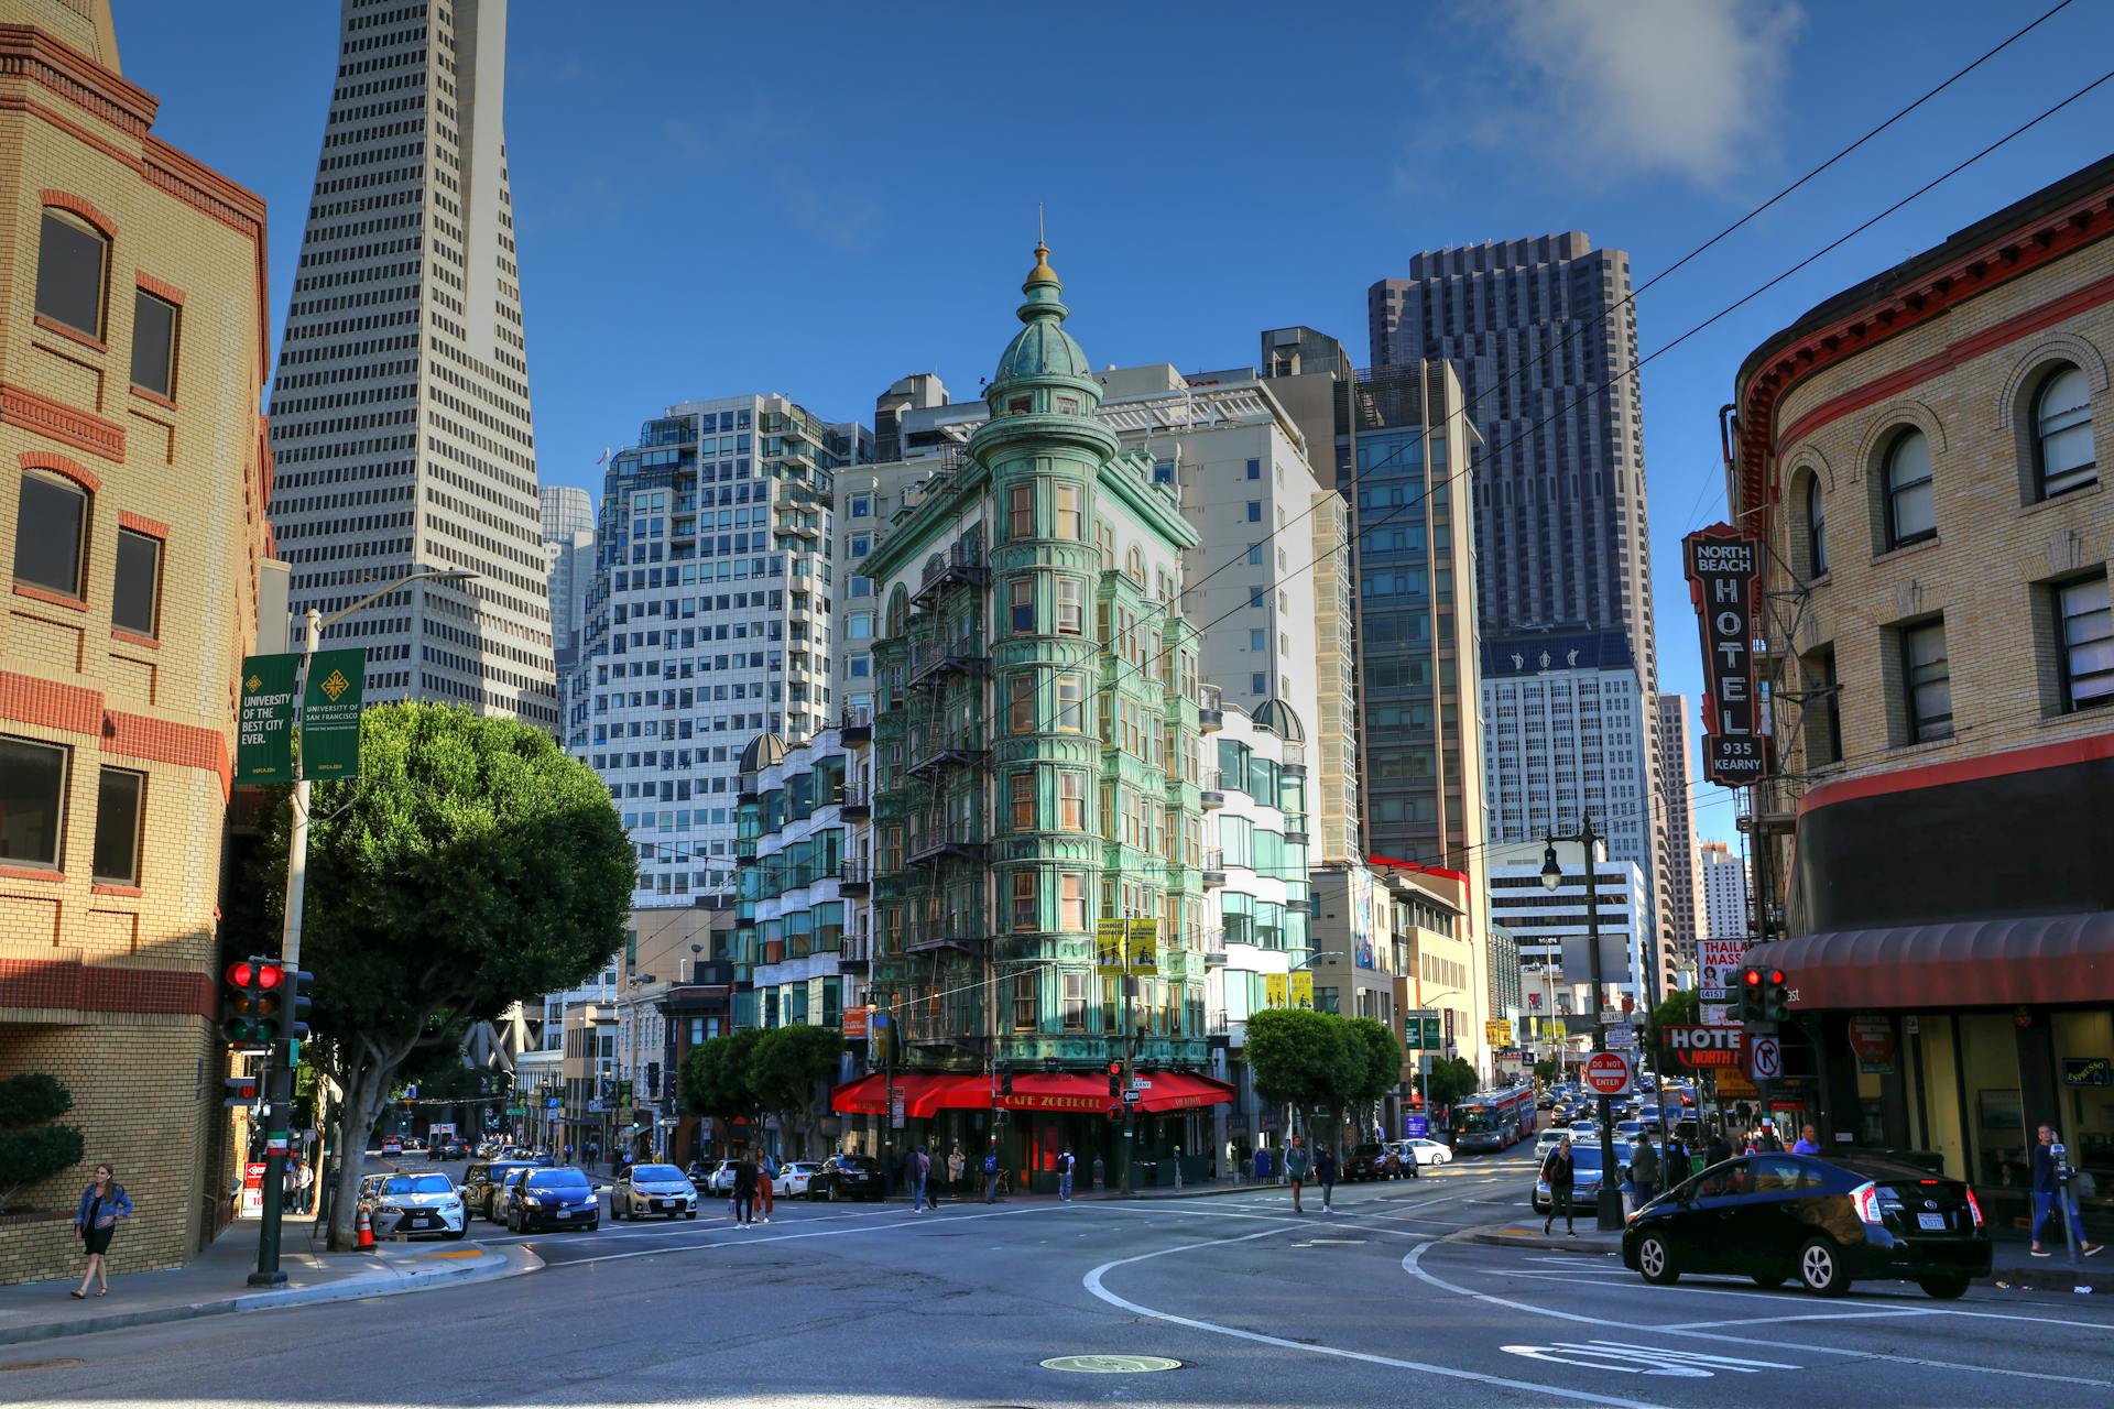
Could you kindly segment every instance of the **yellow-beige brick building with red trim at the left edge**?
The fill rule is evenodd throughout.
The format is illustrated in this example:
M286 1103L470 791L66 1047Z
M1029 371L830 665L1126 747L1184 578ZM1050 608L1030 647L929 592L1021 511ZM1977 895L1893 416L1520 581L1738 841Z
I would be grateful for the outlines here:
M150 133L108 0L0 0L0 1073L74 1094L137 1213L118 1272L226 1215L222 837L273 553L262 201ZM87 1166L0 1225L78 1265Z

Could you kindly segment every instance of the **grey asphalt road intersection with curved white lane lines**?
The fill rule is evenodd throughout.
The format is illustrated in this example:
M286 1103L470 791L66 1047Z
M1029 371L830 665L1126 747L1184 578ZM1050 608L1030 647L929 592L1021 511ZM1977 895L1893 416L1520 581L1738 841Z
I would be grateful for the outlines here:
M2114 1308L1974 1289L1841 1301L1450 1240L1528 1160L1180 1202L780 1200L767 1227L539 1234L543 1272L11 1356L0 1401L93 1405L2027 1405L2114 1403ZM482 1232L478 1236L484 1236ZM505 1238L497 1234L495 1238ZM118 1289L120 1295L123 1289ZM273 1354L273 1371L256 1365ZM294 1354L283 1354L294 1352ZM1165 1356L1070 1373L1051 1356ZM57 1360L51 1365L40 1365ZM38 1367L40 1365L40 1367Z

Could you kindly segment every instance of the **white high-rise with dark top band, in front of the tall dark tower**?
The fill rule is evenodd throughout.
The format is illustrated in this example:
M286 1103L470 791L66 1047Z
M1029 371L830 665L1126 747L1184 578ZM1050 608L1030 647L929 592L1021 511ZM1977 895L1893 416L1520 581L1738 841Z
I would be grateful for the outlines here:
M1636 665L1621 632L1543 632L1484 640L1482 756L1490 843L1533 843L1579 830L1581 818L1607 839L1607 856L1636 866L1638 934L1657 934L1651 900L1653 820L1638 801L1651 739ZM1539 856L1539 853L1537 853ZM1497 881L1492 879L1492 887ZM1490 919L1497 915L1492 889ZM1520 936L1520 953L1528 934ZM1674 987L1674 957L1659 944L1662 982ZM1579 980L1583 982L1583 980Z

